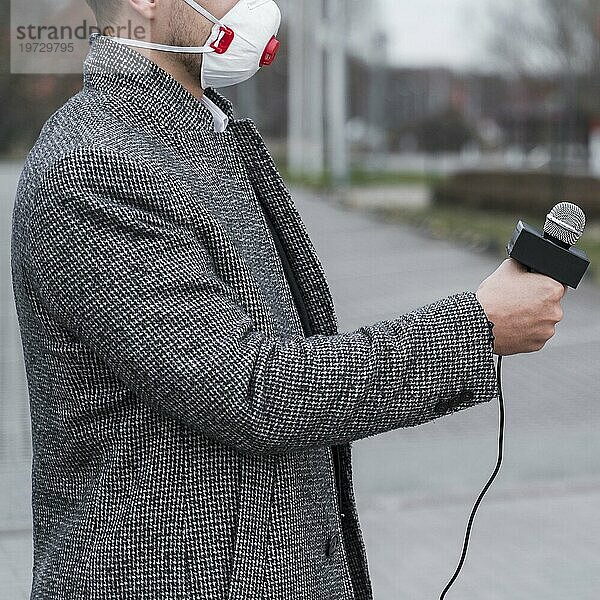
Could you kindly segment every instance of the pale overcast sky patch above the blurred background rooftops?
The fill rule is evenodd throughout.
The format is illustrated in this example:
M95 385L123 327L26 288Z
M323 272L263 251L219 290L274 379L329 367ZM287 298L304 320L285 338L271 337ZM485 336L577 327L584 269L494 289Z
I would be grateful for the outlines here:
M506 2L507 0L500 0ZM485 68L492 0L372 0L401 65Z

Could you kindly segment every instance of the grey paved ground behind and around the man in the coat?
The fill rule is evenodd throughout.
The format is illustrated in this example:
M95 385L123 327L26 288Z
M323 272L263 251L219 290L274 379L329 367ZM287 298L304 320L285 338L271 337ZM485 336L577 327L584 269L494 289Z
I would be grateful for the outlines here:
M0 167L0 600L28 597L28 407L8 279L15 166ZM300 191L340 329L475 289L488 256L432 241ZM600 290L569 294L560 333L505 363L506 464L483 504L463 577L448 599L591 600L600 594ZM378 600L437 599L466 518L496 458L489 404L357 442L356 491Z

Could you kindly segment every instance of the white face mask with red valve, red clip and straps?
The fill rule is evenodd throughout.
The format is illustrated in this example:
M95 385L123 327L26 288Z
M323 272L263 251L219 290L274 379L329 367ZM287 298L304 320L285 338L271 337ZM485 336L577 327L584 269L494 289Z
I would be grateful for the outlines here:
M275 36L281 25L281 12L274 0L239 0L222 19L211 15L195 0L183 1L214 23L205 46L169 46L129 38L111 39L136 48L205 54L200 73L202 89L242 83L275 60L279 50Z

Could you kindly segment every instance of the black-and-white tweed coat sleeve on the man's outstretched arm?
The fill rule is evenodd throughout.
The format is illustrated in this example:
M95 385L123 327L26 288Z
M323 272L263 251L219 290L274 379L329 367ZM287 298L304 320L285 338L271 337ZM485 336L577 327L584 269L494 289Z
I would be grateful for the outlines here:
M495 397L490 328L473 293L334 336L267 336L197 232L140 201L140 168L91 150L59 161L34 195L28 272L54 318L156 411L272 454ZM130 183L111 179L117 171Z

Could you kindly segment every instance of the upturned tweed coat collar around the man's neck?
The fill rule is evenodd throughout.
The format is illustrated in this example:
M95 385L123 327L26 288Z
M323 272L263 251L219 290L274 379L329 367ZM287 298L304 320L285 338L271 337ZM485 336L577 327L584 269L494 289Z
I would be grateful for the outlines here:
M202 102L156 63L108 36L90 37L83 73L85 89L102 95L127 118L173 132L214 131L213 116ZM233 121L229 100L212 89L205 95Z

